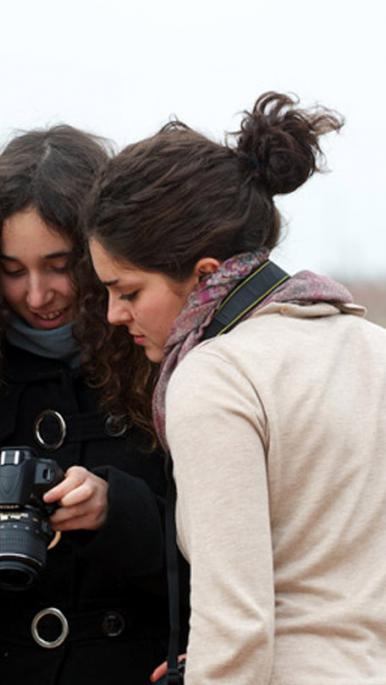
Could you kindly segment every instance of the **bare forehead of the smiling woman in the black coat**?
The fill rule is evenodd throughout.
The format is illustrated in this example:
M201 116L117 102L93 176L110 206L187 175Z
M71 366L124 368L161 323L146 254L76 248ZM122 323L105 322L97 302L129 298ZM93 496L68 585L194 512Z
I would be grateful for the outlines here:
M1 251L5 255L26 258L71 247L71 239L46 224L35 209L16 212L4 221Z

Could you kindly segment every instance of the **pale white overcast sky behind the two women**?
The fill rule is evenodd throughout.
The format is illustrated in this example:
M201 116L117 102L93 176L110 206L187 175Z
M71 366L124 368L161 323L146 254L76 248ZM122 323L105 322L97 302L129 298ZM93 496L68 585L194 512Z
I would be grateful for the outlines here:
M285 268L386 278L383 0L0 0L0 142L70 123L122 145L171 114L222 139L266 90L339 110L331 173L279 202Z

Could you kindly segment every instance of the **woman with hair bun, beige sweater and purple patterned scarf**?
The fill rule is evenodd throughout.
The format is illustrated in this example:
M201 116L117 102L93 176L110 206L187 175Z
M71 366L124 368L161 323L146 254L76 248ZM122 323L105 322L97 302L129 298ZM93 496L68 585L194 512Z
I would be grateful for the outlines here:
M191 564L186 685L384 681L386 332L342 285L269 260L274 197L321 170L320 136L341 125L266 93L226 144L171 122L91 194L108 319L160 364Z

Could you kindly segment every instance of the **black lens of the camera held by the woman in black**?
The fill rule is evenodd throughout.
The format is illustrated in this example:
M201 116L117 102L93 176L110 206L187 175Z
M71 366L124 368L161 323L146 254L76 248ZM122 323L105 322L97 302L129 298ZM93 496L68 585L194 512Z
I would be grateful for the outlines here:
M45 566L51 528L38 509L2 511L0 516L0 588L25 590Z

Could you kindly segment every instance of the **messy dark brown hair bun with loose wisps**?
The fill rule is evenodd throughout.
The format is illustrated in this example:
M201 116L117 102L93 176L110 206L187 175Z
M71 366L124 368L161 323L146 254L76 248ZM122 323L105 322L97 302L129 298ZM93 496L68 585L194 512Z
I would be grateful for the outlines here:
M297 108L298 99L281 93L261 95L252 112L245 112L237 136L243 169L271 195L291 193L315 171L324 158L319 136L338 131L343 119L318 107Z

